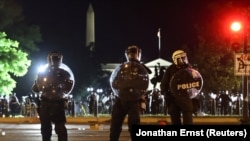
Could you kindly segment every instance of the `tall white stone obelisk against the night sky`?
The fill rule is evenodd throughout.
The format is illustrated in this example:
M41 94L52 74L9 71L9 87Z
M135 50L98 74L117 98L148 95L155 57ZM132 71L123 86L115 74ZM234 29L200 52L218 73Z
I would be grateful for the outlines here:
M94 51L95 43L95 13L92 4L89 4L86 19L86 47Z

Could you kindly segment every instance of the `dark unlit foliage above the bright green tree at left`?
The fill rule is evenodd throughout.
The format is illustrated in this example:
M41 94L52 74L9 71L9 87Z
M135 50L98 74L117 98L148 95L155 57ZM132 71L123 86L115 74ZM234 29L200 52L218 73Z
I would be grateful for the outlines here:
M42 41L40 27L30 24L22 15L21 1L0 0L0 31L19 42L19 48L26 52L39 51L36 43Z

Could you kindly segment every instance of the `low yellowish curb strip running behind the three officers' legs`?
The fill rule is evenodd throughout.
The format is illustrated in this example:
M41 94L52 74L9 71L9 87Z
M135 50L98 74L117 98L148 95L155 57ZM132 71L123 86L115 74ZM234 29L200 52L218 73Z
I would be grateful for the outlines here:
M241 116L195 116L195 124L240 124ZM85 117L67 117L67 123L69 124L89 124L90 122L96 122L100 124L109 124L110 116L85 116ZM159 121L166 121L170 123L169 116L141 116L141 123L143 124L157 124ZM127 123L127 118L124 121ZM40 123L39 118L35 117L17 117L17 118L0 118L0 123Z

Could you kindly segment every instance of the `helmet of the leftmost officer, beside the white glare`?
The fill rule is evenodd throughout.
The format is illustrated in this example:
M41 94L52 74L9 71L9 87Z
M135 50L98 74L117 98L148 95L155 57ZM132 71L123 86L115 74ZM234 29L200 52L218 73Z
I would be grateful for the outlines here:
M62 64L63 55L60 52L52 51L48 54L49 66L59 67Z

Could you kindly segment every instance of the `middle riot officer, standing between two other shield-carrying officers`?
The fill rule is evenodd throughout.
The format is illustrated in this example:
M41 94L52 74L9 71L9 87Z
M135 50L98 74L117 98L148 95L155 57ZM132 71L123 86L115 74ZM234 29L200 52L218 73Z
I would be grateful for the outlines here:
M141 104L148 88L151 71L140 63L141 49L129 46L125 51L127 62L112 72L110 84L117 95L111 113L110 141L118 141L123 121L128 115L128 128L132 135L132 125L140 123ZM143 104L142 104L143 105Z

